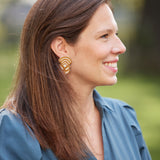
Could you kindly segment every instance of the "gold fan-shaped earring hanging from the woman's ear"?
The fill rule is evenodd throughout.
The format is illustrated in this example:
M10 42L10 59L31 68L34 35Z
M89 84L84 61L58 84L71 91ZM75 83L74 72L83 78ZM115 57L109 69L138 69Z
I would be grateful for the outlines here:
M64 71L65 74L68 74L70 72L72 60L67 56L63 56L59 58L58 61L60 63L60 68L62 69L62 71Z

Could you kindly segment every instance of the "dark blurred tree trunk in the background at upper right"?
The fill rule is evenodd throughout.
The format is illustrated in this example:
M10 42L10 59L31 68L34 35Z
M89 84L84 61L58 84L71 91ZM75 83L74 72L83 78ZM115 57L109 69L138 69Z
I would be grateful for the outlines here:
M130 71L160 73L159 6L158 0L145 0L135 38L130 44Z

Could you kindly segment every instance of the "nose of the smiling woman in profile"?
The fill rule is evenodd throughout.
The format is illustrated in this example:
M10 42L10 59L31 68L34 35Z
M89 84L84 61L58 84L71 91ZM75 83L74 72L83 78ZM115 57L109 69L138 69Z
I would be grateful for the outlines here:
M126 51L125 45L118 37L116 37L116 41L113 44L112 53L123 54L125 51Z

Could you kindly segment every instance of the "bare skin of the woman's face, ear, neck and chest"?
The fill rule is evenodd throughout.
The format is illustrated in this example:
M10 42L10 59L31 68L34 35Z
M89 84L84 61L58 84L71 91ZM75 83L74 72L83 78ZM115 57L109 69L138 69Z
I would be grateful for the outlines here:
M69 56L72 59L71 71L67 76L77 91L77 104L82 113L80 119L84 122L87 134L84 141L98 160L104 159L104 152L101 118L94 104L93 89L117 82L119 55L126 51L117 32L112 11L107 4L102 4L76 44L67 44L63 37L57 37L51 44L57 56Z

